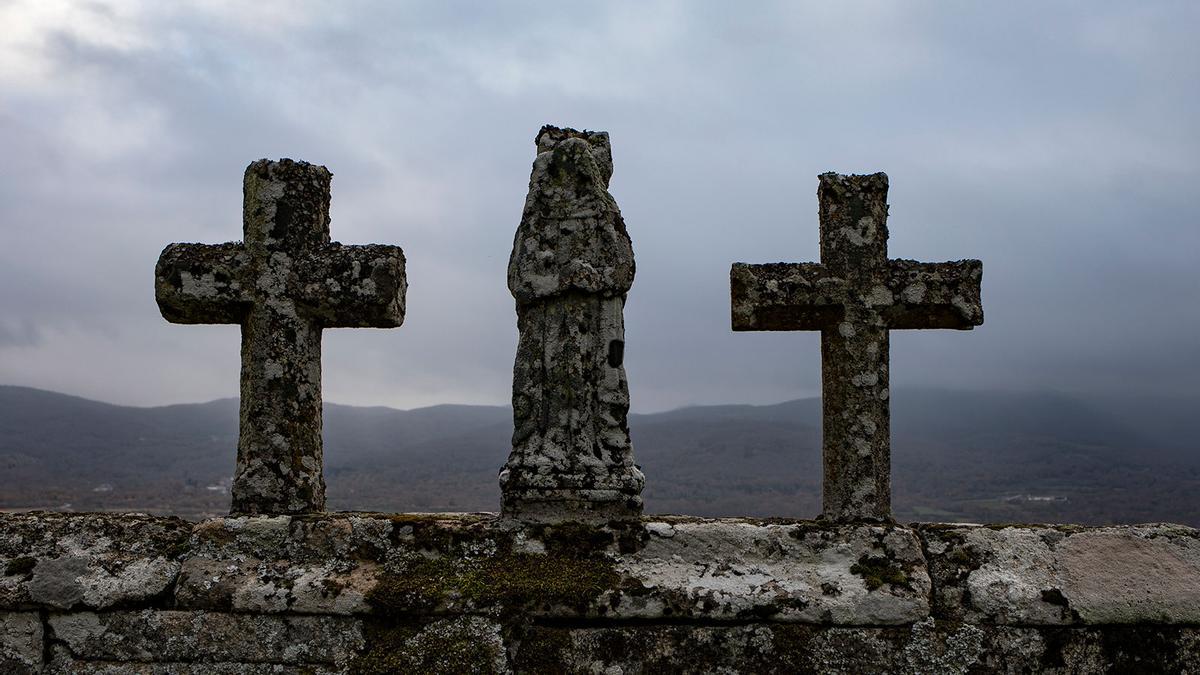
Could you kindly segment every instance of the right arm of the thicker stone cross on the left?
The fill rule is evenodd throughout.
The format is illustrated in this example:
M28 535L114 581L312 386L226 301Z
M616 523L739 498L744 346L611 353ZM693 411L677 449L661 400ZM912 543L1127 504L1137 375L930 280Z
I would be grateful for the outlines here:
M301 294L326 328L395 328L404 322L404 252L400 246L330 244L310 253Z

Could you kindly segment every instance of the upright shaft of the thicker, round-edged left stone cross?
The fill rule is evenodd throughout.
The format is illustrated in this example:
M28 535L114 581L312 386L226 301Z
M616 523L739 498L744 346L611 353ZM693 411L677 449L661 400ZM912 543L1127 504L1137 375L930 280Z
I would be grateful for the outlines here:
M306 163L254 162L242 187L242 237L263 261L260 293L241 330L241 432L234 513L323 510L320 324L298 311L298 264L329 244L332 174Z

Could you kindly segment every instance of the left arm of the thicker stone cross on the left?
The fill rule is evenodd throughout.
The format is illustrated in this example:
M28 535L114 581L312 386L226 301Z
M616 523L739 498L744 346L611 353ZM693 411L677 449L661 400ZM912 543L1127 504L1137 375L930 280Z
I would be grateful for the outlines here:
M172 323L240 323L250 306L245 246L170 244L155 265L155 299Z

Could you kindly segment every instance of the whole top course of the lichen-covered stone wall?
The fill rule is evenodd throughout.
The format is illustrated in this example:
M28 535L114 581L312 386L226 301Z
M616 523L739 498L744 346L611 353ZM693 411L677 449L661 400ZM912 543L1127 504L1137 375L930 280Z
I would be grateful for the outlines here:
M509 607L565 619L1200 625L1200 531L673 515L521 525L490 513L194 524L0 515L0 609L163 602L262 614Z

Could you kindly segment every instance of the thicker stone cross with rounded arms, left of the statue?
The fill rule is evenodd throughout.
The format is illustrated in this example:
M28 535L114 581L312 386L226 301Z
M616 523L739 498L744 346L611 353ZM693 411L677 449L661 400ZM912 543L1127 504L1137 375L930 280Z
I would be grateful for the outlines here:
M241 324L234 514L324 510L320 331L404 319L400 247L329 240L331 177L307 162L253 162L245 241L170 244L155 268L167 321Z

